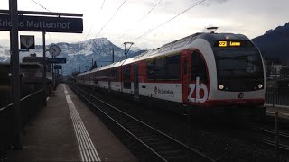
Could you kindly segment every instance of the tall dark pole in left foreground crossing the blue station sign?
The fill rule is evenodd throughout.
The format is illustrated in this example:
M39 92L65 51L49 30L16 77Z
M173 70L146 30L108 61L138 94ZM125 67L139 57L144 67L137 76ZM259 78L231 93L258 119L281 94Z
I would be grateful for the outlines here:
M14 94L14 149L22 149L20 133L22 130L22 116L20 109L20 76L19 76L19 41L18 41L18 9L17 0L9 1L11 16L11 54L13 66L13 94Z

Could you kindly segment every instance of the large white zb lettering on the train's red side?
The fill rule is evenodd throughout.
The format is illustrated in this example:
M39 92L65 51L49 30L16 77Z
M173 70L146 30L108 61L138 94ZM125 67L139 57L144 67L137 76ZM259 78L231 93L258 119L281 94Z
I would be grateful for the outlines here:
M196 78L195 84L190 84L190 94L188 99L192 103L205 103L208 99L208 88L204 84L200 84L200 77Z

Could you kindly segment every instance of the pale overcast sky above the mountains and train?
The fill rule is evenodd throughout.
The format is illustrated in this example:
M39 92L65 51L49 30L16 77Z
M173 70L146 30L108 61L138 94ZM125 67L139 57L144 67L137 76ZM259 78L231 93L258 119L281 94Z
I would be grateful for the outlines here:
M151 49L192 33L205 31L205 27L212 25L219 26L217 32L242 33L252 39L289 22L288 0L206 0L184 14L181 13L200 0L33 1L51 12L84 14L82 34L49 33L46 37L47 44L105 37L120 47L125 41L133 41L136 47ZM18 9L45 11L33 1L18 0ZM8 2L9 0L1 0L0 9L8 9ZM116 15L112 17L114 14ZM178 14L181 15L165 23ZM112 19L108 22L110 18ZM162 26L155 29L162 23ZM147 31L150 32L144 35ZM19 34L33 34L36 36L36 44L42 44L40 32ZM0 45L9 46L8 42L9 32L0 31Z

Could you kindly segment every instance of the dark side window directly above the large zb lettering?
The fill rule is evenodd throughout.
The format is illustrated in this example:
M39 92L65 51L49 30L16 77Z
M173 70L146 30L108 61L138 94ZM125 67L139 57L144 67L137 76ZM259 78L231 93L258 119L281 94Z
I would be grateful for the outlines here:
M208 84L207 66L200 52L193 51L191 54L191 81L200 77L200 82Z

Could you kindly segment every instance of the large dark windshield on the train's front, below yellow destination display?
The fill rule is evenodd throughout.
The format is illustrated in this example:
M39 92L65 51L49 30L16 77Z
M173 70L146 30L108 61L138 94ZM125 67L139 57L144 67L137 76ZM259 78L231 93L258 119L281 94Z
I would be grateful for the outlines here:
M214 49L219 84L227 90L254 90L263 84L263 64L255 48ZM243 87L243 88L242 88Z

